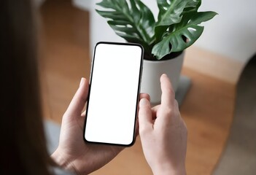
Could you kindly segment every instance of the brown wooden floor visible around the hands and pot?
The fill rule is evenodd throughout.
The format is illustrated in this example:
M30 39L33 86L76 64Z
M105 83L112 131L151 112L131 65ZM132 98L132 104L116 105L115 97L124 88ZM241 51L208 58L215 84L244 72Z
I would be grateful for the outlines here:
M81 77L90 76L89 14L69 0L46 1L42 18L42 90L44 115L61 123ZM187 174L211 174L220 158L233 119L236 85L188 67L192 79L180 111L187 123ZM152 174L139 138L133 147L93 174Z

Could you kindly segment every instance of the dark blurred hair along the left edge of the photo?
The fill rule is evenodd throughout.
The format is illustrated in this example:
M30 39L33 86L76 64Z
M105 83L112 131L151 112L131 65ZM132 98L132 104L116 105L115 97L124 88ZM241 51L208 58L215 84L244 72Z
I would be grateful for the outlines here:
M0 174L50 174L34 10L29 0L0 3Z

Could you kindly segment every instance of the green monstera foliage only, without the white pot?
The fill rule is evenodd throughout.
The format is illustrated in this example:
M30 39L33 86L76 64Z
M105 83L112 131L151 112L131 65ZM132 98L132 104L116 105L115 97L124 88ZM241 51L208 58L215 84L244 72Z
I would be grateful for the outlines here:
M102 0L96 9L115 33L144 47L144 59L160 60L190 47L203 33L202 22L216 12L198 12L201 0L156 0L158 19L140 0ZM174 54L175 55L175 54Z

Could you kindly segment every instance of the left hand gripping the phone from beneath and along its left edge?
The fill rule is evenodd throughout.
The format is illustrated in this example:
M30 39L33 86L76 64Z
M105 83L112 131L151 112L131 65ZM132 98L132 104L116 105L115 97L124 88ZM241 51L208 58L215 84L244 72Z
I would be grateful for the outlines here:
M123 150L123 147L86 144L83 140L85 113L82 109L88 98L88 81L81 79L77 93L63 115L58 148L51 156L56 163L77 174L90 174L101 168Z

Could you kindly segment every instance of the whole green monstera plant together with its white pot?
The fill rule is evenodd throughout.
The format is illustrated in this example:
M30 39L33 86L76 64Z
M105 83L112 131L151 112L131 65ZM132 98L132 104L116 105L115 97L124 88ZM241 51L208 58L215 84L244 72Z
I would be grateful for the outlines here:
M144 2L149 1L154 0ZM155 1L157 19L140 0L102 0L96 9L117 35L144 47L141 92L150 94L152 104L160 103L161 74L168 75L177 91L181 85L183 51L203 33L201 23L217 15L216 12L198 12L201 0Z

